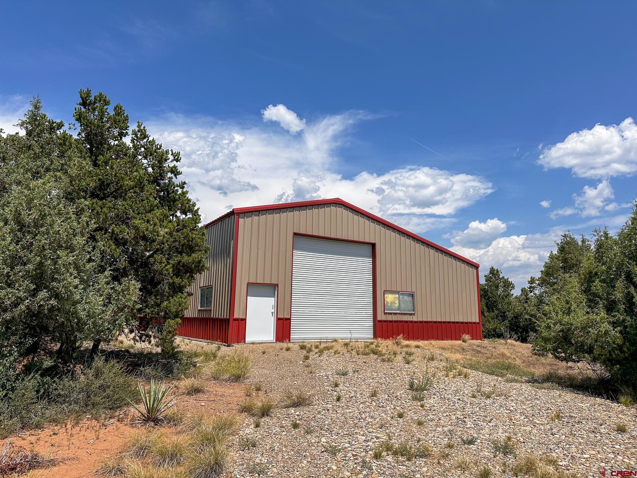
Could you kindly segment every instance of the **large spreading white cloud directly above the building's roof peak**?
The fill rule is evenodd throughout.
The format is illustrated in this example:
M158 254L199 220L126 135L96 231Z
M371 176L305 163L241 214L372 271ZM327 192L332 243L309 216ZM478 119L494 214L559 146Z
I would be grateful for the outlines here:
M494 190L478 175L411 164L380 173L361 168L343 177L337 172L340 146L354 124L371 118L359 111L328 115L304 122L294 135L260 122L180 115L147 126L164 147L182 152L183 178L206 221L227 206L340 197L422 233L450 226L450 216Z

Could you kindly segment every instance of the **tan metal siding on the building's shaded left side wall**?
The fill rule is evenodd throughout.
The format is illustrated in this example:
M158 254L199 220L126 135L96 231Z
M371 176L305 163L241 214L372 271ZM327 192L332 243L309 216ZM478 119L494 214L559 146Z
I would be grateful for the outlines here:
M234 215L211 224L206 229L206 243L210 252L206 259L208 270L197 274L189 287L190 305L185 317L230 317L230 298L233 276ZM212 286L212 307L199 310L199 287Z

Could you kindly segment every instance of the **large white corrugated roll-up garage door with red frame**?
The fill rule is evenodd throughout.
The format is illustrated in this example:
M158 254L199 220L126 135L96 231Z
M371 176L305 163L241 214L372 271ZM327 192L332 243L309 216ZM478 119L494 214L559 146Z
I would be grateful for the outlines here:
M373 338L371 245L294 236L291 340Z

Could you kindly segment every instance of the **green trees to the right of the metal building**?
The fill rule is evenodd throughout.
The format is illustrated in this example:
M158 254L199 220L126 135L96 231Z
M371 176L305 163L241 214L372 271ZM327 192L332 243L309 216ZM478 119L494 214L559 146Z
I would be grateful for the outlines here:
M529 340L539 354L587 363L615 386L637 386L637 201L615 236L565 233L555 245L518 296L499 270L485 275L485 337Z

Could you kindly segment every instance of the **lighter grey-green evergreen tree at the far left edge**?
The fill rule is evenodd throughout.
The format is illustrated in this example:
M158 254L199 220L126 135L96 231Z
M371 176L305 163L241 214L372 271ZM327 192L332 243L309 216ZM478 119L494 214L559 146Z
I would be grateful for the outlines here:
M20 126L24 135L0 136L0 353L50 351L63 365L134 321L138 284L113 282L95 259L82 148L39 99Z

